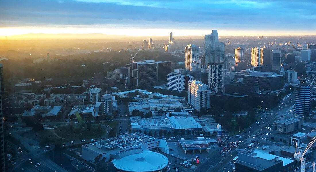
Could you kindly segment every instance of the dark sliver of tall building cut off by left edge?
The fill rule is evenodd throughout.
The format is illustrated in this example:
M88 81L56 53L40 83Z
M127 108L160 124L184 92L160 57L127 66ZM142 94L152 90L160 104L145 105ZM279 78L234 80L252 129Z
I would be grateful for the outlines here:
M3 83L3 65L0 64L0 171L5 172L4 163L4 136L3 136L3 109L2 109L2 95L4 91Z

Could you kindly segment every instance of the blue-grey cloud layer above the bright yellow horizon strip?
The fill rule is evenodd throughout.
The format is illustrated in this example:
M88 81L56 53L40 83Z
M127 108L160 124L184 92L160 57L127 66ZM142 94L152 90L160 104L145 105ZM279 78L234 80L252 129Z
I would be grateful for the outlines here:
M315 30L314 9L307 0L2 0L0 27Z

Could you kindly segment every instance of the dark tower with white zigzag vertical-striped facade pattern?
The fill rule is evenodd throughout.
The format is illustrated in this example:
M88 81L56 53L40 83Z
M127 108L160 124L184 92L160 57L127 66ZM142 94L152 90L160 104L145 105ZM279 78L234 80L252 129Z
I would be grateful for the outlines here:
M208 64L208 85L212 93L225 92L224 83L224 63L209 63Z

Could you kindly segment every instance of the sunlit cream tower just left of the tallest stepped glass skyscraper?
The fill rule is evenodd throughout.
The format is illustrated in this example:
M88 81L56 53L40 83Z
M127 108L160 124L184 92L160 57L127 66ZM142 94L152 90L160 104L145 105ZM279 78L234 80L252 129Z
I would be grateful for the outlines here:
M185 69L192 71L192 64L194 65L194 62L198 62L199 58L199 47L194 44L189 44L185 46Z

